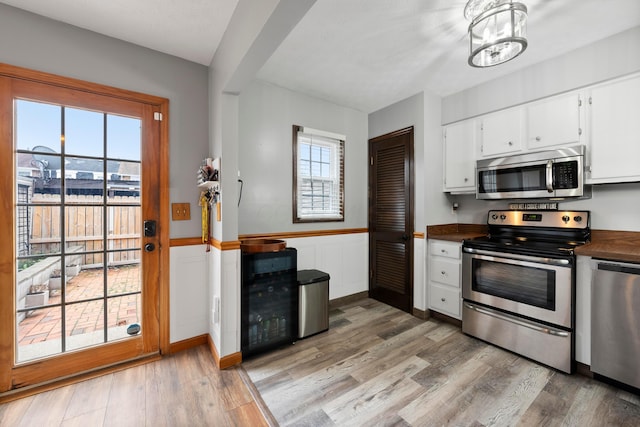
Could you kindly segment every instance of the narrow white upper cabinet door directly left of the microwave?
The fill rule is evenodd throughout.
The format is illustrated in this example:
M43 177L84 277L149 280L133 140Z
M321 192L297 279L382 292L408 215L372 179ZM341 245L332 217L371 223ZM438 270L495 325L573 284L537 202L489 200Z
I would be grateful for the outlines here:
M475 191L475 166L475 121L447 126L444 129L444 191Z

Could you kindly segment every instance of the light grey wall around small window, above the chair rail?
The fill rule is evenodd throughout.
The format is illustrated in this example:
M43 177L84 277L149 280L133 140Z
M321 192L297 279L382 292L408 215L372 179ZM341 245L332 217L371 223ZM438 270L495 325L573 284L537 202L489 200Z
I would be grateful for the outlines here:
M238 234L367 226L367 115L261 81L240 95ZM294 224L293 125L346 136L345 220ZM231 201L237 203L237 200Z

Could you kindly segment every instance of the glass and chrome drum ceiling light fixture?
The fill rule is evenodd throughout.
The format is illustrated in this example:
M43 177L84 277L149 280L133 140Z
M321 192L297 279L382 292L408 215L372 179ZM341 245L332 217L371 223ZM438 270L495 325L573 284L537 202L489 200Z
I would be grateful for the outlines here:
M527 48L527 7L512 0L469 0L469 65L492 67Z

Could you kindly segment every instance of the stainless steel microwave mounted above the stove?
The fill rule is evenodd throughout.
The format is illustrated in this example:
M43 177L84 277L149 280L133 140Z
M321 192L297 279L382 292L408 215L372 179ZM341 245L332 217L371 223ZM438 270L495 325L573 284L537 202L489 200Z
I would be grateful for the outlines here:
M583 197L585 147L477 161L477 199Z

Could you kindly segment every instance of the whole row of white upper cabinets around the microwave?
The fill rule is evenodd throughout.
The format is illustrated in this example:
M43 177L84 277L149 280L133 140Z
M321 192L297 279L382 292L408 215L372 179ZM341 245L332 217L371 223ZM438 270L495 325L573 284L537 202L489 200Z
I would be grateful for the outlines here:
M640 74L444 129L444 191L475 191L475 161L586 146L585 183L640 181ZM474 158L475 157L475 158Z

